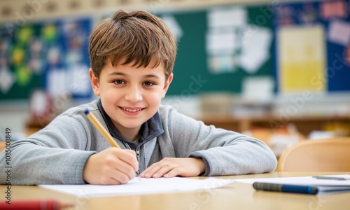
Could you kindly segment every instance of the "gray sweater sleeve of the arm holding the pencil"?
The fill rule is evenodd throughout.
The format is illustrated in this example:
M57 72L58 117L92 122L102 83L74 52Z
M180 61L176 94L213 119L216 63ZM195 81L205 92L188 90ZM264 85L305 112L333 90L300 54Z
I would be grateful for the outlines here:
M12 185L82 184L83 168L94 151L85 151L90 136L83 125L59 116L43 130L15 141L10 149ZM0 184L6 182L5 153L0 153ZM8 165L7 165L8 166Z

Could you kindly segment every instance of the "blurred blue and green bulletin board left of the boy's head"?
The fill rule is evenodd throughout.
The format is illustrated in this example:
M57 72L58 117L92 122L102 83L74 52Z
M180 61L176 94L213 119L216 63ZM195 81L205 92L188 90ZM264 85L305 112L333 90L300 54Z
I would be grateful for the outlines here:
M90 97L91 29L91 18L0 25L0 100L28 99L36 89Z

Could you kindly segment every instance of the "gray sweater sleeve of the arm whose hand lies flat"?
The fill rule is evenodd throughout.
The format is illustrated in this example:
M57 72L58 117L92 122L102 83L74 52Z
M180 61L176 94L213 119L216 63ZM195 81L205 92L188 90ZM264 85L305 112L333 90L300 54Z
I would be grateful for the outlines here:
M203 176L260 174L276 168L276 156L258 139L204 125L176 111L169 113L168 122L176 156L202 158Z

